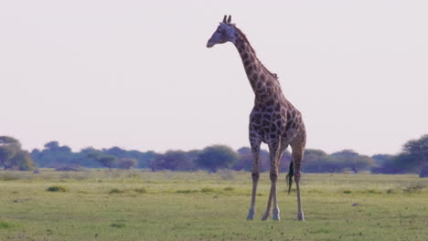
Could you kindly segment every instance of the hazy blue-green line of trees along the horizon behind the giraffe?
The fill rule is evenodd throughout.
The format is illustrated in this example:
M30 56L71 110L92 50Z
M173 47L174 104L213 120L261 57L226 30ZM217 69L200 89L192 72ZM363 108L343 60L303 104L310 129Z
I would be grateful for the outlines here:
M282 172L288 172L291 153L286 151L280 162ZM120 147L109 149L83 148L72 152L59 141L49 141L42 150L22 150L18 140L0 136L0 167L5 170L34 170L49 167L63 171L79 171L81 168L147 168L153 172L162 170L217 172L219 169L233 169L251 172L252 153L249 147L233 150L226 145L212 145L202 150L127 151ZM260 154L261 171L270 169L269 152ZM407 141L398 154L359 154L352 150L326 153L322 150L306 149L304 173L343 173L370 171L371 173L420 173L428 176L428 135Z

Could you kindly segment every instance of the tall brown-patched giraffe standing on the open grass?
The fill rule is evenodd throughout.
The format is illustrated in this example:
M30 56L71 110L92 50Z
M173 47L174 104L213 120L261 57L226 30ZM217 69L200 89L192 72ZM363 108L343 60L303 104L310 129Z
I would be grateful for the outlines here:
M294 177L297 193L297 219L304 221L305 217L300 197L300 165L305 152L306 132L302 114L285 99L276 74L271 73L262 65L247 37L245 37L241 29L235 24L231 24L230 21L231 16L224 16L223 21L219 23L214 34L209 38L207 47L226 42L231 42L235 45L255 95L249 126L253 164L251 172L251 205L247 219L254 219L257 183L260 176L260 146L264 142L268 145L270 154L271 191L262 220L266 220L271 214L272 204L273 220L280 220L276 182L279 174L279 162L285 149L290 145L293 158L286 177L288 194L290 194Z

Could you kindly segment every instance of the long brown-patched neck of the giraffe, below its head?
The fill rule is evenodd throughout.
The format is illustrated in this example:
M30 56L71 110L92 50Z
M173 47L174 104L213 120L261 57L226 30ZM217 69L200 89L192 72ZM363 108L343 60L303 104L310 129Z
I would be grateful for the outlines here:
M238 31L234 44L240 53L242 64L247 78L250 80L256 101L264 102L274 96L282 95L283 92L276 75L269 72L262 65L247 38L241 34L241 31Z

